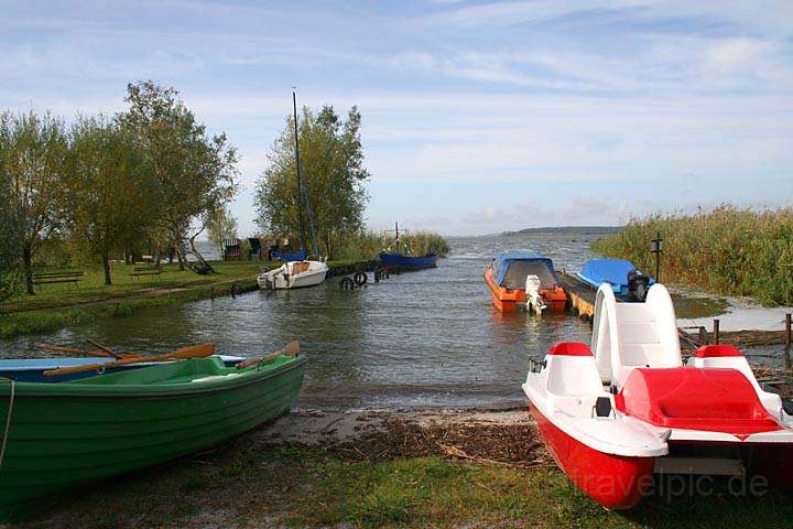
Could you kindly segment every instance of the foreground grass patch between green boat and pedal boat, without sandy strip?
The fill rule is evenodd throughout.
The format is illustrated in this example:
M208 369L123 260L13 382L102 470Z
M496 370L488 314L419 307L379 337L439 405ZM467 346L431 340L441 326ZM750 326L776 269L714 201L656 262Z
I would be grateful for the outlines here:
M354 461L333 451L220 450L75 494L25 528L143 527L791 527L776 493L654 497L610 512L555 468L519 469L437 456Z

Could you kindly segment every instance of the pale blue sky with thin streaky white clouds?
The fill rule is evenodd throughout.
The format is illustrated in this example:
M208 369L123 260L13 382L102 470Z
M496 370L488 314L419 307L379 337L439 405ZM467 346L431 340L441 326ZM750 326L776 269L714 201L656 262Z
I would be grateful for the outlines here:
M793 203L793 1L0 1L0 109L180 90L253 190L300 105L357 105L368 226L478 235Z

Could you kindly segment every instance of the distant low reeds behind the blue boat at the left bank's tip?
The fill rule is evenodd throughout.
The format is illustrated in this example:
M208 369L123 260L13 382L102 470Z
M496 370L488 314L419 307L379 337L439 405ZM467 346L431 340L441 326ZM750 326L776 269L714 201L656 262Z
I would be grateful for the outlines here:
M361 230L356 234L341 236L336 240L333 258L337 260L374 259L381 251L392 245L393 236L379 234L372 230ZM437 253L446 257L449 246L442 235L433 231L414 231L400 234L399 251L411 256ZM397 246L392 245L397 250Z

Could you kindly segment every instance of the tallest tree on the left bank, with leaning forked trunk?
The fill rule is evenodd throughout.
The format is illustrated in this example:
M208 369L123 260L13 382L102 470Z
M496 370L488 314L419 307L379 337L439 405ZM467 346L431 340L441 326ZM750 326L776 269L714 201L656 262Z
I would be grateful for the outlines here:
M118 120L134 132L146 171L156 183L155 227L167 234L183 268L185 263L193 268L186 259L189 251L200 263L194 269L210 271L195 239L211 212L236 193L237 150L225 133L209 136L177 96L175 89L151 80L130 84L124 98L130 108Z

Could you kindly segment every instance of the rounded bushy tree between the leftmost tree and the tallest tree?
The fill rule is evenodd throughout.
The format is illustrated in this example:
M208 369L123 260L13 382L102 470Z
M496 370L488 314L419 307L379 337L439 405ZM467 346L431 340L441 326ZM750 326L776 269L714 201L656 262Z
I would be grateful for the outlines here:
M144 229L152 210L148 174L129 130L106 117L80 118L72 128L66 204L69 228L101 259L111 284L110 257Z

